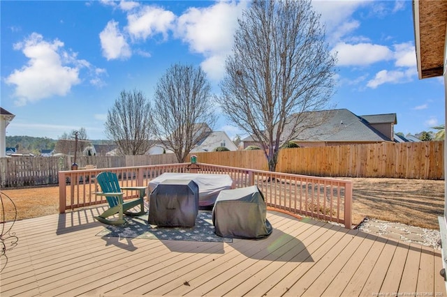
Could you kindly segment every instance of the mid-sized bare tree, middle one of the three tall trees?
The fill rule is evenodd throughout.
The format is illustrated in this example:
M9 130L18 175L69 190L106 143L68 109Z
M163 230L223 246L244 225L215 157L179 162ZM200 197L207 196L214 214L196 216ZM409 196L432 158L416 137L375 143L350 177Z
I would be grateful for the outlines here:
M211 86L201 68L175 64L159 79L154 103L155 135L185 162L215 122Z

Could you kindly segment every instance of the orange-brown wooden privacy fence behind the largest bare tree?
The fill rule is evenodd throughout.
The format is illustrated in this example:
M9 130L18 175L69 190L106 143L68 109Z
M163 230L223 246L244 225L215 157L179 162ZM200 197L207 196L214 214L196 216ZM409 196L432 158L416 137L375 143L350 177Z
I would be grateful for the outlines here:
M268 170L263 151L196 153L207 164ZM444 142L284 148L277 172L312 176L444 179Z

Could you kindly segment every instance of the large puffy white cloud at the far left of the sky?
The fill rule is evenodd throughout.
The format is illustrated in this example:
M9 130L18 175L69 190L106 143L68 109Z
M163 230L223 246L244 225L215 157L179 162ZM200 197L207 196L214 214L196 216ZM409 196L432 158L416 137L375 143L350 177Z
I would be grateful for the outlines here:
M76 60L75 54L64 52L64 43L43 40L43 36L32 33L22 43L14 45L15 50L22 50L29 59L26 66L14 70L6 77L7 84L14 84L16 105L26 105L54 95L65 96L71 87L80 83L79 70L88 64ZM67 64L77 62L74 67Z

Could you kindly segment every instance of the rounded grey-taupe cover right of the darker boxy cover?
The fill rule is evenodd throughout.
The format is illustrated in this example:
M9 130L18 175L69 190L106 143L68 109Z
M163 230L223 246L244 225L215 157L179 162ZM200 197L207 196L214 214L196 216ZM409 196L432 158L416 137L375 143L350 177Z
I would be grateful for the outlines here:
M264 196L256 185L222 190L212 209L212 223L217 235L260 239L272 233L266 218Z

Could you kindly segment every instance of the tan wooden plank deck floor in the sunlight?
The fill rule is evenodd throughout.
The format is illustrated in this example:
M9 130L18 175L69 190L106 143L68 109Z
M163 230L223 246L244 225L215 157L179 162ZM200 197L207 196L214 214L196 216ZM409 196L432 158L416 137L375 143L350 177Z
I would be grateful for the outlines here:
M105 238L103 210L16 222L0 295L446 296L433 248L277 212L261 241Z

